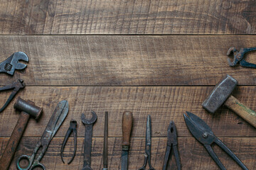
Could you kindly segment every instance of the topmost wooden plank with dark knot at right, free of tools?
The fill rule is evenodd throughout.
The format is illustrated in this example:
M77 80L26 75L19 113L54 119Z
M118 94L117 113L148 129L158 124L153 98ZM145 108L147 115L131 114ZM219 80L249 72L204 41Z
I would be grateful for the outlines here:
M254 0L0 1L0 33L255 34Z

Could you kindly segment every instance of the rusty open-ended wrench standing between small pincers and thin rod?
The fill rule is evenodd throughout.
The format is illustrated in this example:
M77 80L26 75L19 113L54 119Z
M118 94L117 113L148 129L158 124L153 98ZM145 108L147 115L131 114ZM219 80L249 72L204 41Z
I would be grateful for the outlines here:
M91 168L91 152L92 152L92 126L97 120L97 115L91 111L92 118L85 119L85 114L81 115L82 123L85 125L85 145L84 145L84 162L82 170L92 170Z

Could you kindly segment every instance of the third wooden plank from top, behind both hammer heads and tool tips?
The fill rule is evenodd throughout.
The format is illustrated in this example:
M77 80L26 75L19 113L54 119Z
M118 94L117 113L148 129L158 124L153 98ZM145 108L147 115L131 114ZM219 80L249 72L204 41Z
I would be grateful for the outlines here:
M93 136L103 137L105 111L109 111L109 136L122 137L122 113L132 111L134 128L132 137L144 137L146 117L151 115L153 137L163 137L171 120L176 123L179 137L191 136L183 120L183 113L191 111L212 128L218 137L255 137L255 128L242 120L228 108L221 108L218 113L207 113L201 103L210 93L211 86L181 87L32 87L27 86L18 94L21 98L31 100L36 106L43 107L41 119L31 120L25 136L40 137L57 103L68 100L69 113L56 136L63 137L73 118L78 121L78 136L84 136L85 127L80 120L81 113L90 117L90 111L98 115L94 125ZM234 96L256 111L255 86L239 86ZM0 103L4 103L9 93L1 94ZM14 111L14 101L3 113L0 113L1 137L11 135L18 112Z

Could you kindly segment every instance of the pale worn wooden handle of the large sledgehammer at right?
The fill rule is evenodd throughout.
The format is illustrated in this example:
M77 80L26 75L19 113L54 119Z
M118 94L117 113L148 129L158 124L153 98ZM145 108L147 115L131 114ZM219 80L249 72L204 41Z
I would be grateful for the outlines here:
M256 113L252 109L245 106L243 103L238 101L234 96L230 96L224 103L225 106L230 108L232 111L240 115L241 118L250 123L254 128L256 128Z

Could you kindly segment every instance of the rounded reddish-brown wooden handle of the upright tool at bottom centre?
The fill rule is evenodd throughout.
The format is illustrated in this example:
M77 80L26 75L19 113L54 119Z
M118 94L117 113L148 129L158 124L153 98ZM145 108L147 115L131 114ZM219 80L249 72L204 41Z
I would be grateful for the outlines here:
M124 112L122 116L122 146L130 144L129 138L132 131L132 112Z

